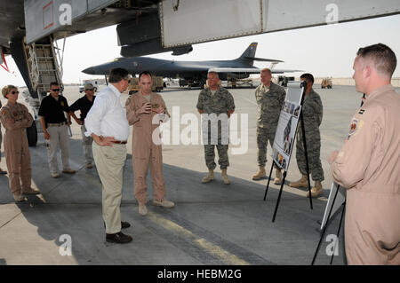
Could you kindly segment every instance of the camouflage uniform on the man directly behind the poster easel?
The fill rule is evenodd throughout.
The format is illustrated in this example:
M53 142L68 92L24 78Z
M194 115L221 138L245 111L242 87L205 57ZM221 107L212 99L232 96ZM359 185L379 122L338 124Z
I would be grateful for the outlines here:
M314 181L324 181L324 170L319 157L321 150L321 135L319 126L323 118L323 105L319 94L313 89L304 98L301 108L306 132L308 166ZM296 160L300 173L307 176L306 153L304 152L301 122L296 142Z

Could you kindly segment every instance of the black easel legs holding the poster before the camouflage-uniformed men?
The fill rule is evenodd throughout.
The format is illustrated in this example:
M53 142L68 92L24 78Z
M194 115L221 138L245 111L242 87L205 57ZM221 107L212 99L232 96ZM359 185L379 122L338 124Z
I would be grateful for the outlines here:
M302 107L302 106L303 106L303 103L304 103L305 90L307 89L307 83L306 83L305 81L303 81L302 83L300 83L300 87L302 88L301 99L300 99L300 106ZM308 176L309 203L310 203L310 208L313 209L313 200L312 200L312 197L311 197L311 183L310 183L310 180L309 180L307 142L306 142L306 134L305 134L305 130L304 130L303 113L302 113L301 109L300 109L300 122L301 122L302 139L303 139L303 145L304 145L304 153L305 153L305 155L306 155L306 169L307 169L307 176ZM297 124L297 127L296 127L295 138L297 138L297 133L298 133L298 131L299 131L299 123ZM287 169L289 168L290 158L292 157L292 149L293 149L293 146L294 146L294 140L293 140L292 145L291 145L290 155L289 155L289 160L288 160L287 166L286 166L286 168L284 169L282 184L281 184L281 188L280 188L280 190L279 190L278 198L277 198L277 200L276 200L276 207L275 207L275 211L274 211L274 216L272 217L272 222L275 222L277 208L279 207L279 202L280 202L280 200L281 200L282 191L283 191L283 189L284 189L284 180L286 179ZM268 176L268 183L267 183L267 187L266 187L266 189L265 189L264 201L267 199L267 193L268 193L269 182L270 182L270 180L271 180L271 175L272 175L272 170L274 169L274 165L278 166L279 168L283 168L282 166L280 166L280 164L277 164L276 161L272 161L272 166L271 166L271 169L270 169L270 171L269 171L269 176Z

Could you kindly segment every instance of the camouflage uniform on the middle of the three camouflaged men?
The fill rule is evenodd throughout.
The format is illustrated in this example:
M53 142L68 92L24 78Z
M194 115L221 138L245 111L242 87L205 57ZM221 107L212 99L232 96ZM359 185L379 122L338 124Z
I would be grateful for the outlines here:
M283 87L272 83L267 89L260 84L255 90L255 98L258 105L257 113L257 146L260 167L265 167L267 162L267 145L274 145L277 122L284 105L286 91Z

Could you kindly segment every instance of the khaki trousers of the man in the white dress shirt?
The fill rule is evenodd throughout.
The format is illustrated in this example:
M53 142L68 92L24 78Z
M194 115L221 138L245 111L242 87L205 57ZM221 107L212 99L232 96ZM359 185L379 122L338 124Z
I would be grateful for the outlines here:
M126 145L100 146L93 142L93 157L102 184L103 219L106 232L121 232L121 198Z

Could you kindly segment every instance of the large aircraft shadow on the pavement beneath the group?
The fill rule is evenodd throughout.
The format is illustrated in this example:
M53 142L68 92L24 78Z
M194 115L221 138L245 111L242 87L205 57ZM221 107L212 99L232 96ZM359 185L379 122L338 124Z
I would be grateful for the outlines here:
M10 242L13 235L26 232L25 239L44 264L232 264L226 255L235 255L240 263L311 263L319 240L316 221L323 216L325 201L314 200L314 209L310 210L308 199L284 192L276 222L272 223L279 188L272 182L268 199L263 201L265 185L236 177L230 177L231 185L224 185L219 173L211 183L201 184L204 172L164 164L166 198L176 206L164 209L152 205L148 174L149 213L140 216L133 196L131 155L124 167L121 210L123 220L132 224L124 232L132 235L133 241L127 245L109 244L105 241L96 169L84 167L80 140L71 139L69 145L76 148L70 151L70 160L78 171L57 179L50 176L44 145L31 148L32 178L42 194L28 196L28 201L17 204L22 218L15 218L13 221L19 222L13 226L7 224L7 230L1 228L6 233L4 239ZM8 192L4 190L0 178L0 202L12 205L12 194L8 185ZM337 222L332 222L328 233L336 233L333 230ZM72 256L59 254L59 248L65 245L60 236L65 234L72 239ZM325 246L317 264L329 263ZM224 253L217 253L218 248ZM0 264L5 264L5 258L0 258ZM28 257L22 258L20 263L34 263ZM342 264L342 259L336 256L334 263Z

